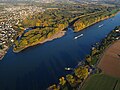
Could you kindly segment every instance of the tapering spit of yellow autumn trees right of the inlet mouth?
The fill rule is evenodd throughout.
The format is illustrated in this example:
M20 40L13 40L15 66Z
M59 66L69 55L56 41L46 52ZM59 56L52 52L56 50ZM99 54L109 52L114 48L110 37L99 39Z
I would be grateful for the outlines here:
M109 12L109 14L107 16L104 16L104 17L103 16L100 16L100 17L99 16L94 16L94 13L93 13L93 16L97 17L97 18L95 18L95 19L89 18L90 20L88 20L88 21L87 20L82 21L82 18L84 18L85 16L76 19L76 21L73 23L73 26L72 26L73 29L74 29L74 32L79 32L79 31L84 30L84 29L86 29L86 28L88 28L88 27L90 27L90 26L92 26L92 25L94 25L98 22L101 22L101 21L106 20L108 18L112 18L119 12L119 11L115 11L114 13L112 13L113 11ZM87 16L89 17L90 15L88 14Z

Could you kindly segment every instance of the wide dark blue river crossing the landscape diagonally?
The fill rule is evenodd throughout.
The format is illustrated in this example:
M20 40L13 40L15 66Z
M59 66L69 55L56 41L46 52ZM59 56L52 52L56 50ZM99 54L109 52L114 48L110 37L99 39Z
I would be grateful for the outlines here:
M65 36L30 47L20 53L9 49L0 61L0 90L45 90L58 78L70 72L65 67L75 67L90 48L120 25L120 13L78 33L68 29ZM75 36L83 37L74 39Z

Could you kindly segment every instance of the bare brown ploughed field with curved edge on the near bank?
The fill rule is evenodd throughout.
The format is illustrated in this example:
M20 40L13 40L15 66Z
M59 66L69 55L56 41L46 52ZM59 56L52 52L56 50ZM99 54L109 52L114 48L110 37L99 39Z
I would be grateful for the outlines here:
M105 50L98 67L106 75L120 78L120 40Z

